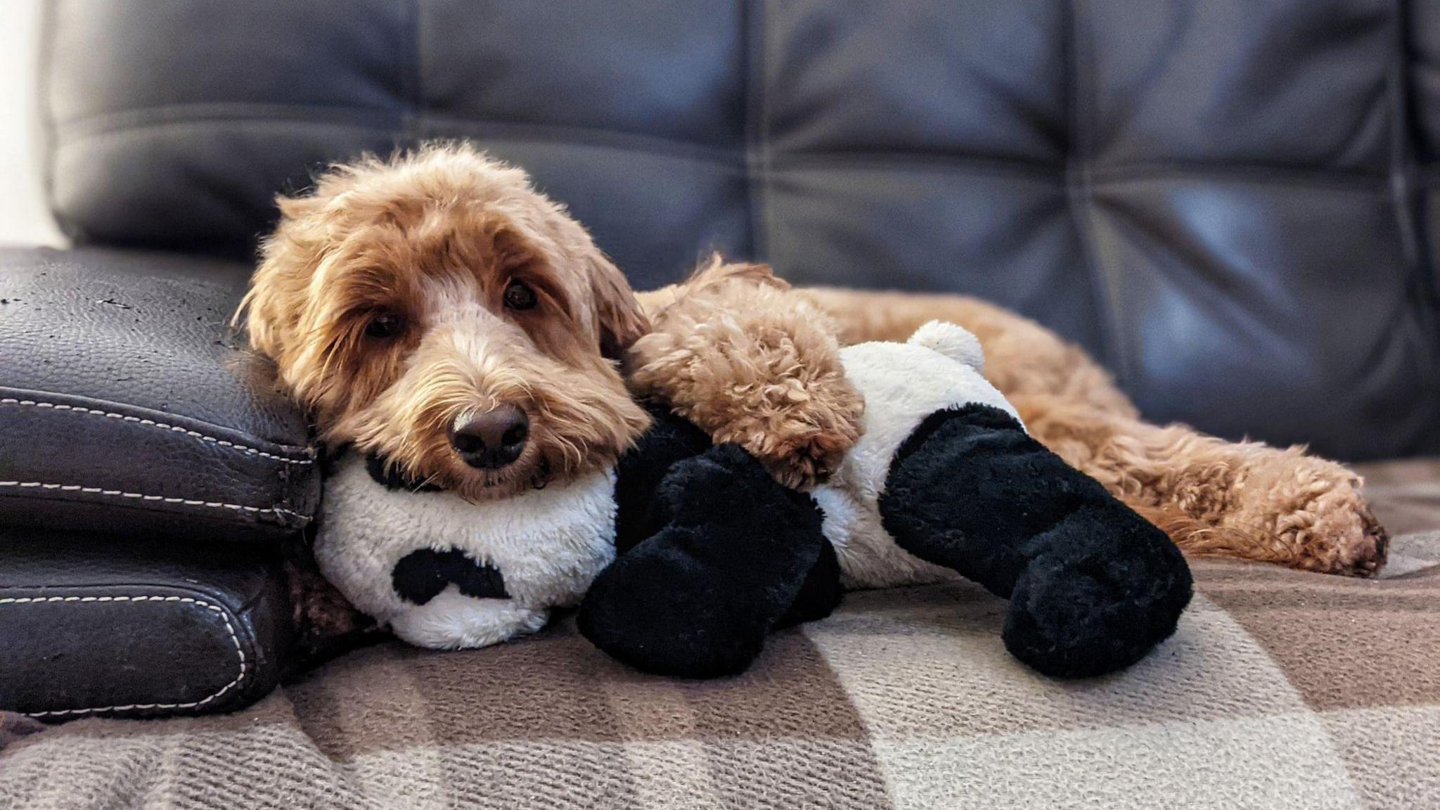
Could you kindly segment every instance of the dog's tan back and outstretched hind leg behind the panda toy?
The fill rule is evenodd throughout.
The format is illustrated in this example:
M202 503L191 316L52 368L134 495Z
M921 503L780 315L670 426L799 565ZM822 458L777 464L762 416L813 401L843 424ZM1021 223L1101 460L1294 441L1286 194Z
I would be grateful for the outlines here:
M930 319L979 336L986 376L1030 431L1103 483L1191 553L1368 577L1387 536L1344 466L1302 448L1228 442L1185 425L1145 422L1112 376L1079 347L1015 313L959 295L805 291L842 340L906 334Z

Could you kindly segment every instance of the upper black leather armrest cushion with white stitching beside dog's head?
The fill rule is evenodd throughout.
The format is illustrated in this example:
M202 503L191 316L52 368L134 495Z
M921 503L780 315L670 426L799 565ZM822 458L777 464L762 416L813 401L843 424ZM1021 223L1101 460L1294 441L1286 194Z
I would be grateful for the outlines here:
M318 473L229 317L249 267L0 249L0 525L275 539Z

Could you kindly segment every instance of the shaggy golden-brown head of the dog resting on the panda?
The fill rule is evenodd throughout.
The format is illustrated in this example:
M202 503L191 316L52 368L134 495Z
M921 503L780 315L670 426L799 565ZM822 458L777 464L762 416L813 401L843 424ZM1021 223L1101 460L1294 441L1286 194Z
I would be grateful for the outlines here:
M647 330L635 295L524 172L432 146L279 208L236 317L327 444L481 500L612 463L645 430L615 368Z

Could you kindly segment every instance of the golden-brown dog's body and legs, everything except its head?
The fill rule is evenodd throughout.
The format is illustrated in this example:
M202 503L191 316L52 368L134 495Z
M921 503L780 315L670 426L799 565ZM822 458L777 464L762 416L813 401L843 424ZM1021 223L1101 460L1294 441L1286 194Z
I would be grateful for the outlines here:
M694 330L685 310L687 287L641 294L655 333L638 340L629 353L632 376L647 388L678 393L691 415L704 422L726 421L706 414L700 404L717 402L740 412L756 409L782 437L809 441L819 453L802 454L791 466L804 479L824 470L834 454L854 441L850 415L852 392L822 375L821 385L791 370L801 365L835 369L832 340L811 334L834 329L840 343L904 340L924 321L939 319L973 331L985 349L985 376L1014 402L1031 434L1067 463L1097 479L1191 553L1279 562L1331 574L1372 575L1385 561L1387 536L1361 496L1359 479L1344 466L1302 448L1279 450L1260 442L1227 442L1184 425L1156 427L1139 418L1110 375L1081 349L1015 313L963 295L861 293L854 290L793 290L765 280L763 267L737 265L730 272L711 264L690 284L713 288L701 311L729 310L729 330L753 334L757 357L747 360L743 379L768 378L765 391L799 388L804 393L765 402L753 386L729 385L737 365L729 347L708 347L684 337ZM750 291L740 281L750 280ZM756 293L763 288L765 293ZM719 298L719 300L716 300ZM792 359L795 346L766 334L789 314L828 319L805 330L804 363ZM755 326L750 326L755 324ZM665 334L672 333L672 334ZM724 373L710 373L710 368ZM773 411L773 412L772 412ZM815 432L828 438L809 438ZM783 438L769 438L783 442ZM747 447L765 441L750 440ZM825 460L812 464L811 458ZM772 460L772 466L785 460Z

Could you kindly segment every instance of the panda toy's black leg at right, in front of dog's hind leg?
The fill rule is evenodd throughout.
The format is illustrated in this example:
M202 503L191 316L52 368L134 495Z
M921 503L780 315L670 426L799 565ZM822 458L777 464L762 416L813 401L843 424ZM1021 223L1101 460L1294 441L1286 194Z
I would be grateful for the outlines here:
M1005 644L1045 675L1128 666L1189 602L1169 538L996 408L922 422L891 461L880 512L910 553L1008 597Z

